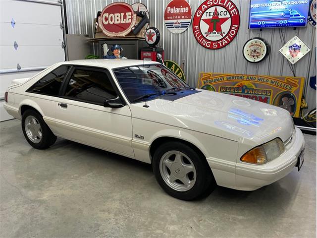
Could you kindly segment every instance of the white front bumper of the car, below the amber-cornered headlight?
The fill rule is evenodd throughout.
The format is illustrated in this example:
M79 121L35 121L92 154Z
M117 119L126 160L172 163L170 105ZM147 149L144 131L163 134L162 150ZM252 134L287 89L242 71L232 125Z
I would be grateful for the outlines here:
M251 165L238 161L235 169L236 189L255 190L288 175L296 166L297 158L305 146L302 131L298 128L295 130L294 142L275 160L265 165Z

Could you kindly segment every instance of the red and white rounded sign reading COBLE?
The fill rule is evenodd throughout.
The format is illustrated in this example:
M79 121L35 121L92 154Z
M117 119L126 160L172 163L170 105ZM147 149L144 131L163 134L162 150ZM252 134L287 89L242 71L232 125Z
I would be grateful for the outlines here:
M99 27L107 36L125 36L136 23L133 8L125 2L107 5L98 19Z

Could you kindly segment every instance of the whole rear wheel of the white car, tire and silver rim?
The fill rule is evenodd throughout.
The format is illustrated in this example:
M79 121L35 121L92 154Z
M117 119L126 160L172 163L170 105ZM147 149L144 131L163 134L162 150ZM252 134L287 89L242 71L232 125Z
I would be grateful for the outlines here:
M21 124L25 139L36 149L47 149L57 139L43 117L33 110L26 110L23 113Z

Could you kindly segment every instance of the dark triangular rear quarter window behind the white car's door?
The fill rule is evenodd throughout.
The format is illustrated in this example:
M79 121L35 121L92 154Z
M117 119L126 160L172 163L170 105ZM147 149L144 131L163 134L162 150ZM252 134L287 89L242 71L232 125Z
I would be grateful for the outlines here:
M59 88L70 66L60 66L33 84L27 92L58 96Z

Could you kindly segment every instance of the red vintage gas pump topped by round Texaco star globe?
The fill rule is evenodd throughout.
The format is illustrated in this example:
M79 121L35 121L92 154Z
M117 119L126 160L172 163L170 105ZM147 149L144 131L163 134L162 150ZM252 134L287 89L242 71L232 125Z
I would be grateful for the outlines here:
M150 27L145 32L145 41L149 47L143 47L141 49L141 60L152 60L164 63L164 49L156 47L159 44L160 34L159 30L155 27Z

